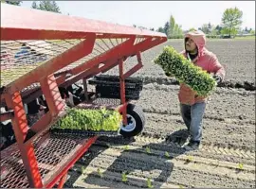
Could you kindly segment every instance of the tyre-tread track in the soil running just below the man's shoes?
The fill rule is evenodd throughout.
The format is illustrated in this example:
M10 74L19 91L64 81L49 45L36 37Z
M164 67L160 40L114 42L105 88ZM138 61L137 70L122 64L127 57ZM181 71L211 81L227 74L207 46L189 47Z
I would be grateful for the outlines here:
M149 146L151 149L161 150L163 152L167 151L169 153L174 153L177 155L185 153L185 150L180 147L176 146L172 142L166 142L164 139L159 141L159 139L150 138L150 137L136 137L136 142L132 143L123 143L121 139L117 140L104 140L101 138L96 144L101 144L105 146L117 146L117 147L126 147L126 146L135 146L137 149L143 149L146 146ZM223 152L225 151L225 152ZM199 150L187 152L188 155L208 158L208 159L215 159L218 161L226 161L232 163L247 163L250 165L255 165L255 152L249 152L240 150L239 152L235 152L233 148L222 148L218 146L208 146L203 145Z

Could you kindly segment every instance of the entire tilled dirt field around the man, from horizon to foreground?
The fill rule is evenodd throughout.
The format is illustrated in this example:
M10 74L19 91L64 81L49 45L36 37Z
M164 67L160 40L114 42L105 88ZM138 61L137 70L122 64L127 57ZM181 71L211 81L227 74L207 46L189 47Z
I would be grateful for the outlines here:
M166 44L182 50L174 41L145 52L147 62L137 73L146 78L137 101L146 115L143 133L131 141L101 137L69 171L65 187L146 188L151 181L155 188L255 188L255 91L218 88L207 106L202 147L185 152L172 142L185 133L179 87L151 62ZM210 41L208 47L226 64L227 80L255 86L253 40Z

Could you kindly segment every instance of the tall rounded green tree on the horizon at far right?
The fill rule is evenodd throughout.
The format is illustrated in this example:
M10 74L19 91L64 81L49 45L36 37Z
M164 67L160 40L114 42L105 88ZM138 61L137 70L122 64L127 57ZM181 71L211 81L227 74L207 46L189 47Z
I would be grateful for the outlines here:
M222 33L228 34L229 37L231 37L231 35L236 35L238 32L239 26L241 26L243 23L242 17L243 17L243 12L240 9L237 9L237 8L226 9L222 16L222 24L224 27L222 29Z

